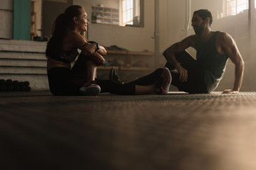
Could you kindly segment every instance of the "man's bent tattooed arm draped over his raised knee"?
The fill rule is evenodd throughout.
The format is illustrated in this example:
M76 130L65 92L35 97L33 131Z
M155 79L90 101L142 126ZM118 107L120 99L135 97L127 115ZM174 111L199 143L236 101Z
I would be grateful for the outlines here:
M173 65L177 69L179 73L179 79L183 82L187 81L188 72L176 60L175 55L180 52L183 52L183 50L186 50L188 47L195 47L196 36L197 35L191 35L181 40L181 42L176 42L174 45L171 45L171 47L167 48L163 52L163 55L166 58L166 61L169 62L171 65Z

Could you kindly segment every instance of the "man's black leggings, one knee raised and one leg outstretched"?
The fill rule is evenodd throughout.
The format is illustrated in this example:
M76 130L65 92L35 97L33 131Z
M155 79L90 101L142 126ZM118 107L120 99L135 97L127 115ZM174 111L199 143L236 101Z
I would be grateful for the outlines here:
M171 84L176 86L179 91L185 91L190 94L207 94L208 92L203 81L203 69L201 65L186 51L176 55L176 60L178 60L178 62L181 63L181 66L188 71L188 80L186 82L180 81L178 72L174 71L175 67L167 62L165 67L171 71ZM163 69L156 69L153 73L132 81L130 84L142 86L155 84L162 72Z

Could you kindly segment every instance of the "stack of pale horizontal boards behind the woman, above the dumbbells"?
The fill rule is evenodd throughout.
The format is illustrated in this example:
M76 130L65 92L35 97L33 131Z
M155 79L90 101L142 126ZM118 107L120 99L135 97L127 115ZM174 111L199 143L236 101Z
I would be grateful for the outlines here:
M0 79L29 81L33 91L48 90L46 42L0 40Z

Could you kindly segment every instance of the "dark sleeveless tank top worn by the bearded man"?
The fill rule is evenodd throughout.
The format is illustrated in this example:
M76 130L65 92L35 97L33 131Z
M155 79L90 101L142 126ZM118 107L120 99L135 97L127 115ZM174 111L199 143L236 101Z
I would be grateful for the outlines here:
M228 56L220 55L216 49L218 33L218 31L213 33L207 42L203 42L199 36L196 39L196 60L204 69L204 82L208 93L217 88L228 63Z

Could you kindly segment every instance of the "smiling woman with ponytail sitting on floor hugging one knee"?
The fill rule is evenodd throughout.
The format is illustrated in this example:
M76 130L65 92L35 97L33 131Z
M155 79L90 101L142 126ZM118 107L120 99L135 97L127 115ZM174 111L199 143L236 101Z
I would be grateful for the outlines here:
M97 66L105 63L102 55L107 55L107 51L97 42L88 41L80 35L81 31L87 31L88 24L87 13L77 5L69 6L53 24L53 35L46 48L48 83L53 95L168 93L171 74L167 68L161 70L161 77L154 84L147 86L95 79ZM81 50L80 55L78 49ZM75 64L71 67L73 61Z

